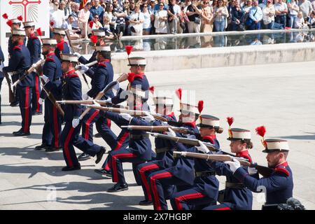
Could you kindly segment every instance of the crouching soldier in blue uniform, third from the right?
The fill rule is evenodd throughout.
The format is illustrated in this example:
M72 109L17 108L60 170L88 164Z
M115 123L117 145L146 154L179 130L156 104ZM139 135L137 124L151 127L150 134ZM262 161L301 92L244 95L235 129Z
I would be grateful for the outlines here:
M202 141L209 142L219 151L220 144L216 139L216 133L221 133L220 120L214 116L200 116L200 146L195 153L202 152L212 154ZM218 199L219 182L216 172L206 160L195 158L195 180L193 188L183 190L172 195L171 204L174 210L200 210L209 205L215 205Z

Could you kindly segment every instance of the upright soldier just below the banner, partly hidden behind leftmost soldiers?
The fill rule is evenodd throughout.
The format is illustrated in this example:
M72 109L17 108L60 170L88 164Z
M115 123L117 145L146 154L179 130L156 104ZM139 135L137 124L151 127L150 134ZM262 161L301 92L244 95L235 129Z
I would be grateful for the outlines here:
M34 64L41 59L41 41L35 36L35 23L33 21L23 22L23 25L28 38L27 48L29 48L31 53L31 64ZM42 114L42 106L38 103L38 99L41 94L41 80L39 80L35 72L32 72L31 75L34 78L34 88L31 91L32 115L40 115Z

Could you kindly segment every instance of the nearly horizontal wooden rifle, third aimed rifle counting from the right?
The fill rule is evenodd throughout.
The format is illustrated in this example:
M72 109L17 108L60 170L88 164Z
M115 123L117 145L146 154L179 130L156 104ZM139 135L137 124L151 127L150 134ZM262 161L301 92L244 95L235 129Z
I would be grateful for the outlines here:
M140 130L144 132L169 132L169 128L174 132L179 132L182 134L192 134L191 131L187 127L174 127L171 125L165 126L141 126L141 125L127 125L121 126L127 128L127 130Z

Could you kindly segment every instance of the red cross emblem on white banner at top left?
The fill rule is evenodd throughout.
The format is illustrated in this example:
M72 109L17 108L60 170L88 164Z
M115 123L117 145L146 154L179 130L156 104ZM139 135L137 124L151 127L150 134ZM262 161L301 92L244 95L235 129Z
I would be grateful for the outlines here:
M30 1L30 0L20 0L20 1L9 1L9 4L13 6L13 13L15 15L21 14L21 9L23 13L24 21L34 21L38 22L38 5L41 1Z

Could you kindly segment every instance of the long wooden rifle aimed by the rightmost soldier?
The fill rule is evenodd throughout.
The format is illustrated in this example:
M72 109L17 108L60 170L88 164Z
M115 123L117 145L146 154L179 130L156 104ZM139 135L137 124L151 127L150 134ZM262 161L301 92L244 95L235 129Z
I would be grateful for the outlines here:
M257 169L258 173L264 177L268 177L272 174L272 172L274 172L274 170L269 167L260 166L255 163L249 162L248 160L244 158L239 158L239 157L235 157L231 155L209 155L209 154L203 154L203 153L189 153L189 152L174 151L173 156L174 158L191 157L191 158L198 158L202 160L212 160L212 161L220 161L220 162L233 161L233 159L236 159L239 161L241 165L244 165L246 167L254 167L255 169Z

